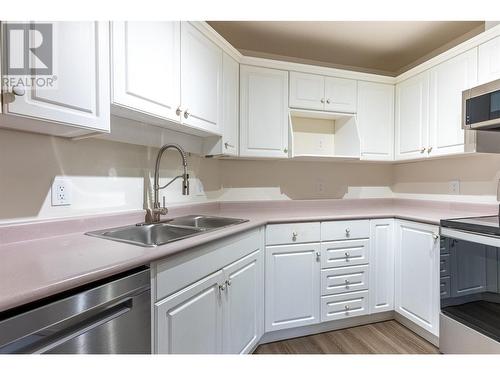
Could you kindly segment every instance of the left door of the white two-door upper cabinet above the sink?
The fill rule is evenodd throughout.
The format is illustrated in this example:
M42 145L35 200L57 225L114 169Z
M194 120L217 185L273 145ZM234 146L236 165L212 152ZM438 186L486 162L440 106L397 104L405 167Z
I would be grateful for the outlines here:
M180 120L180 22L112 23L113 104Z

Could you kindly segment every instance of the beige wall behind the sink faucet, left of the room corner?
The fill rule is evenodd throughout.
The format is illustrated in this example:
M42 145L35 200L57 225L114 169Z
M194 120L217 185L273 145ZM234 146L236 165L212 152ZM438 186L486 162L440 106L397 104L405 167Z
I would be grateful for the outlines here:
M152 176L156 152L118 142L0 130L0 222L142 209L150 186L145 176ZM179 167L179 156L168 152L162 163L162 184L179 174ZM218 162L192 156L189 169L192 194L182 196L177 181L164 192L167 202L216 199ZM73 202L52 207L50 187L54 177L62 175L69 176Z

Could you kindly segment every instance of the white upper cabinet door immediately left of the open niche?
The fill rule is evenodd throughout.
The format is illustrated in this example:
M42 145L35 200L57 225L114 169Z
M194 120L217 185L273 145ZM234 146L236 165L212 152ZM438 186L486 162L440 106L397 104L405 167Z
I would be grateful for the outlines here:
M288 72L240 66L240 155L288 157Z

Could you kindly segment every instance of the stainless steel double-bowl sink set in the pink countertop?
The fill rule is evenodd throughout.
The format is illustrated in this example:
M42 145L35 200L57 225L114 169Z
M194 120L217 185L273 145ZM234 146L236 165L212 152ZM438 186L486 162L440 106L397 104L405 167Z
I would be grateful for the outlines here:
M155 247L169 242L241 224L248 220L229 217L188 215L154 224L136 224L85 233L86 235L125 242L144 247Z

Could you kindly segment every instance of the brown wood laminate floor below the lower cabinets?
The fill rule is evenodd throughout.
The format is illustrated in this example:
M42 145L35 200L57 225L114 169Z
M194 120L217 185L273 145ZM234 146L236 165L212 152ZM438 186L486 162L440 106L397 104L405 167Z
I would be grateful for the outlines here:
M263 344L254 354L438 354L395 320Z

